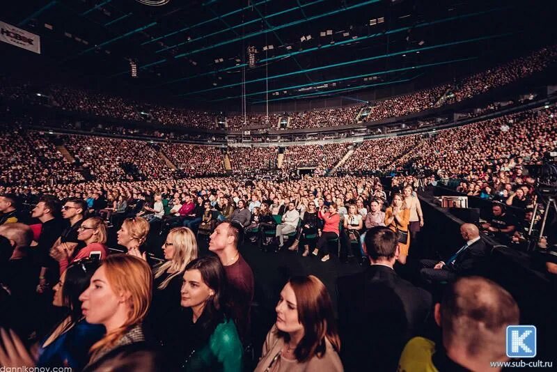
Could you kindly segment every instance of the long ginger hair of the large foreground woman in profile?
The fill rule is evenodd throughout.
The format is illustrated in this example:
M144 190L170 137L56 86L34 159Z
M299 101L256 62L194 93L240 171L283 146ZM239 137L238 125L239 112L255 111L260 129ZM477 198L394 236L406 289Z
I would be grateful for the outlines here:
M128 254L111 254L101 262L114 293L126 293L128 312L127 320L116 330L108 332L102 339L91 346L91 354L113 346L135 325L141 324L151 304L152 272L146 261Z

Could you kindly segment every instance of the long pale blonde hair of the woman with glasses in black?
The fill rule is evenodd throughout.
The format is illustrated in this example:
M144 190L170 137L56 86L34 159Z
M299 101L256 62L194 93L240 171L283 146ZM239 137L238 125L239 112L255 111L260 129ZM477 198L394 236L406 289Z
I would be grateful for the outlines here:
M168 260L157 267L155 270L155 278L160 277L165 272L171 272L158 289L164 289L168 283L177 275L181 275L188 263L194 261L198 256L196 235L187 227L175 227L166 237L166 240L172 243L174 254L171 260Z

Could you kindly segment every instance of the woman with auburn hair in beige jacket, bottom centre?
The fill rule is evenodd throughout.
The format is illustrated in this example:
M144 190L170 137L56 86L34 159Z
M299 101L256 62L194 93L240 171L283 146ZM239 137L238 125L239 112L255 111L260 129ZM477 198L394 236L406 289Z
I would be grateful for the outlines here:
M317 277L292 277L275 310L255 372L343 371L331 297Z

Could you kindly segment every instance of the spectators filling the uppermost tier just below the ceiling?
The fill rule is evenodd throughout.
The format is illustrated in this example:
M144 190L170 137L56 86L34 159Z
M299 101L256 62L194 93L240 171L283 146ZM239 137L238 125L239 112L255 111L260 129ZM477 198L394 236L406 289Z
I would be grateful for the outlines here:
M165 107L153 103L137 102L114 95L88 91L67 86L34 86L27 82L16 82L3 77L0 95L10 99L37 100L36 93L52 99L52 104L66 111L83 111L97 116L110 116L129 121L156 121L164 125L184 125L201 129L224 129L217 125L217 118L224 119L229 129L240 130L242 127L267 126L277 127L281 117L289 117L289 125L285 129L306 127L331 127L348 125L359 121L379 121L414 114L425 109L439 107L442 104L460 102L493 88L504 86L518 79L533 75L555 63L556 45L542 47L527 56L520 56L507 63L457 80L455 84L442 84L433 88L423 89L407 95L356 104L349 107L315 109L284 114L247 114L246 123L240 114L214 114L203 111L191 111L174 107ZM358 117L364 109L366 116Z

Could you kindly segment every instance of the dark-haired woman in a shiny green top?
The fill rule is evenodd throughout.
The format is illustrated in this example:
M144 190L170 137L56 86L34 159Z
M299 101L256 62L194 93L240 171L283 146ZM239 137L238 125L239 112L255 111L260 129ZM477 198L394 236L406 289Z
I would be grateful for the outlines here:
M242 371L242 343L226 309L226 274L218 257L191 261L185 269L181 304L187 309L185 371Z

